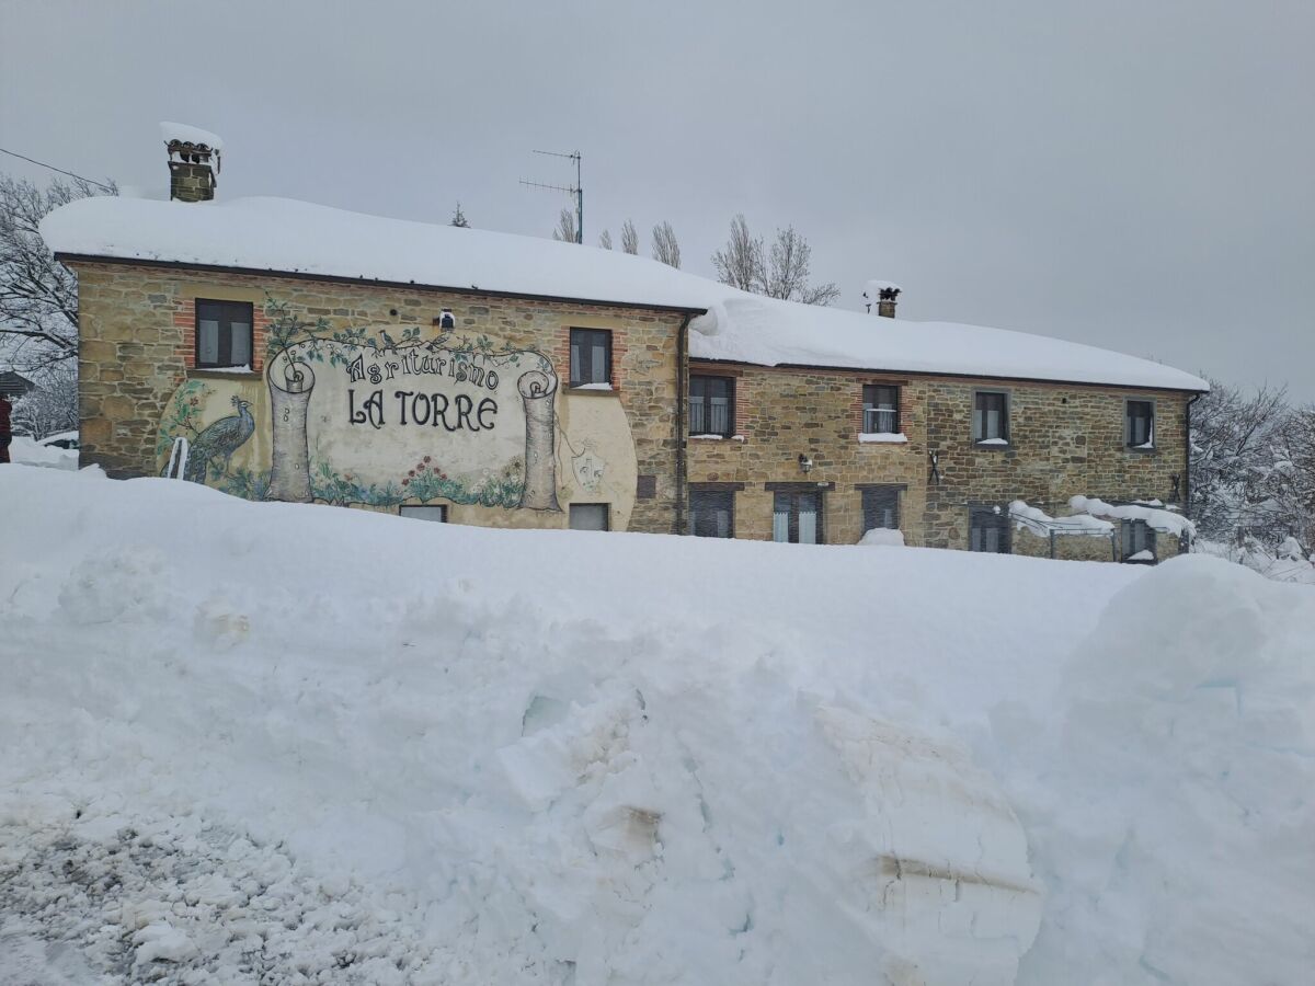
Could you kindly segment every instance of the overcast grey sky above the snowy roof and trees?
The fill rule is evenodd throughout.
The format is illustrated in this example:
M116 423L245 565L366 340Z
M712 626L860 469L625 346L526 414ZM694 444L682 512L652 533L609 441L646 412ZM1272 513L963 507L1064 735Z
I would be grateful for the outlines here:
M156 122L277 195L585 239L794 223L861 308L1315 401L1315 3L0 0L0 146L167 196ZM0 155L0 170L46 172Z

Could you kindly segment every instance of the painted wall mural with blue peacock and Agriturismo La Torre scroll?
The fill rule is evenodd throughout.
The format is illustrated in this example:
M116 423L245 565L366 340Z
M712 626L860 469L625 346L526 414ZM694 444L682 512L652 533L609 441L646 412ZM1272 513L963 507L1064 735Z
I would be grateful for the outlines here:
M268 440L270 469L233 468L234 452L256 431L250 392L231 396L235 414L203 425L203 409L222 400L217 388L243 387L206 377L175 392L160 425L160 455L178 438L189 444L185 479L254 500L396 506L442 498L562 510L558 376L547 356L450 327L430 339L418 326L333 330L272 298L266 313L270 419L256 438L262 447Z

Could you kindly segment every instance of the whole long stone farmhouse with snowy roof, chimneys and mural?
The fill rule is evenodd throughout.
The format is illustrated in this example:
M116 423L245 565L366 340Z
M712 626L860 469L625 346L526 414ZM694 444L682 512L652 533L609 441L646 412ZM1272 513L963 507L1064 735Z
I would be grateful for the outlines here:
M42 234L79 277L84 461L498 527L1153 561L1190 531L1207 384L1040 335L748 294L652 260L277 199Z

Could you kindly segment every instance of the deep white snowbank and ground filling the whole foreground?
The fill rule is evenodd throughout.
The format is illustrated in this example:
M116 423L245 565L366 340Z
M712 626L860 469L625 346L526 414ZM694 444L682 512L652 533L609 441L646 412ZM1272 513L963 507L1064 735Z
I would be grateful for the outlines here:
M26 467L0 544L0 982L1315 968L1307 586Z

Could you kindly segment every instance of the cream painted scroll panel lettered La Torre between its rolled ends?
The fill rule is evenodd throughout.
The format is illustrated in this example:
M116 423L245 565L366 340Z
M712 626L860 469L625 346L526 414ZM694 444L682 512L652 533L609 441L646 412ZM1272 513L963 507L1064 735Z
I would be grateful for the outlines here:
M271 500L562 509L543 354L314 339L271 360L268 387Z

